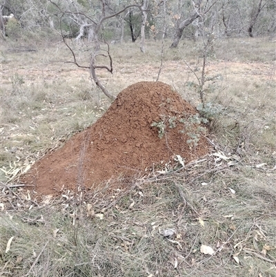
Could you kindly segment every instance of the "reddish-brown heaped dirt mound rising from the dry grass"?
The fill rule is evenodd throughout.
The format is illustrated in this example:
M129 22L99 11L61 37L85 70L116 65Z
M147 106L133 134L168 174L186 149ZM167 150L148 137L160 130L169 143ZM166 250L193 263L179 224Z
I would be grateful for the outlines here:
M195 113L167 84L133 84L119 93L95 124L38 160L21 182L34 185L38 193L54 194L61 188L92 188L112 177L137 175L175 155L189 162L208 153L210 146L201 136L191 148L187 143L190 137L180 132L183 124L175 126L174 122L177 118L188 120ZM166 124L163 137L158 136L162 128L152 122Z

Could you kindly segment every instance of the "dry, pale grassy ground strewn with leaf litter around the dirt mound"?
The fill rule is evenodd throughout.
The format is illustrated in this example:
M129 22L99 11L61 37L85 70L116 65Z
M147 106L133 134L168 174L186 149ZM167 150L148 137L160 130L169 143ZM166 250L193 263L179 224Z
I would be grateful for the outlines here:
M156 79L159 44L147 46L146 55L136 44L112 48L115 73L99 76L113 93ZM0 167L8 177L110 104L90 86L88 72L61 62L69 59L61 44L37 52L10 48L1 49ZM195 105L186 63L200 72L197 48L193 41L166 48L160 77ZM230 39L218 41L209 57L207 74L221 75L206 95L224 107L210 126L219 157L121 179L117 189L64 191L42 201L9 187L17 183L1 171L0 276L276 276L274 51L266 39ZM201 245L215 254L202 254Z

